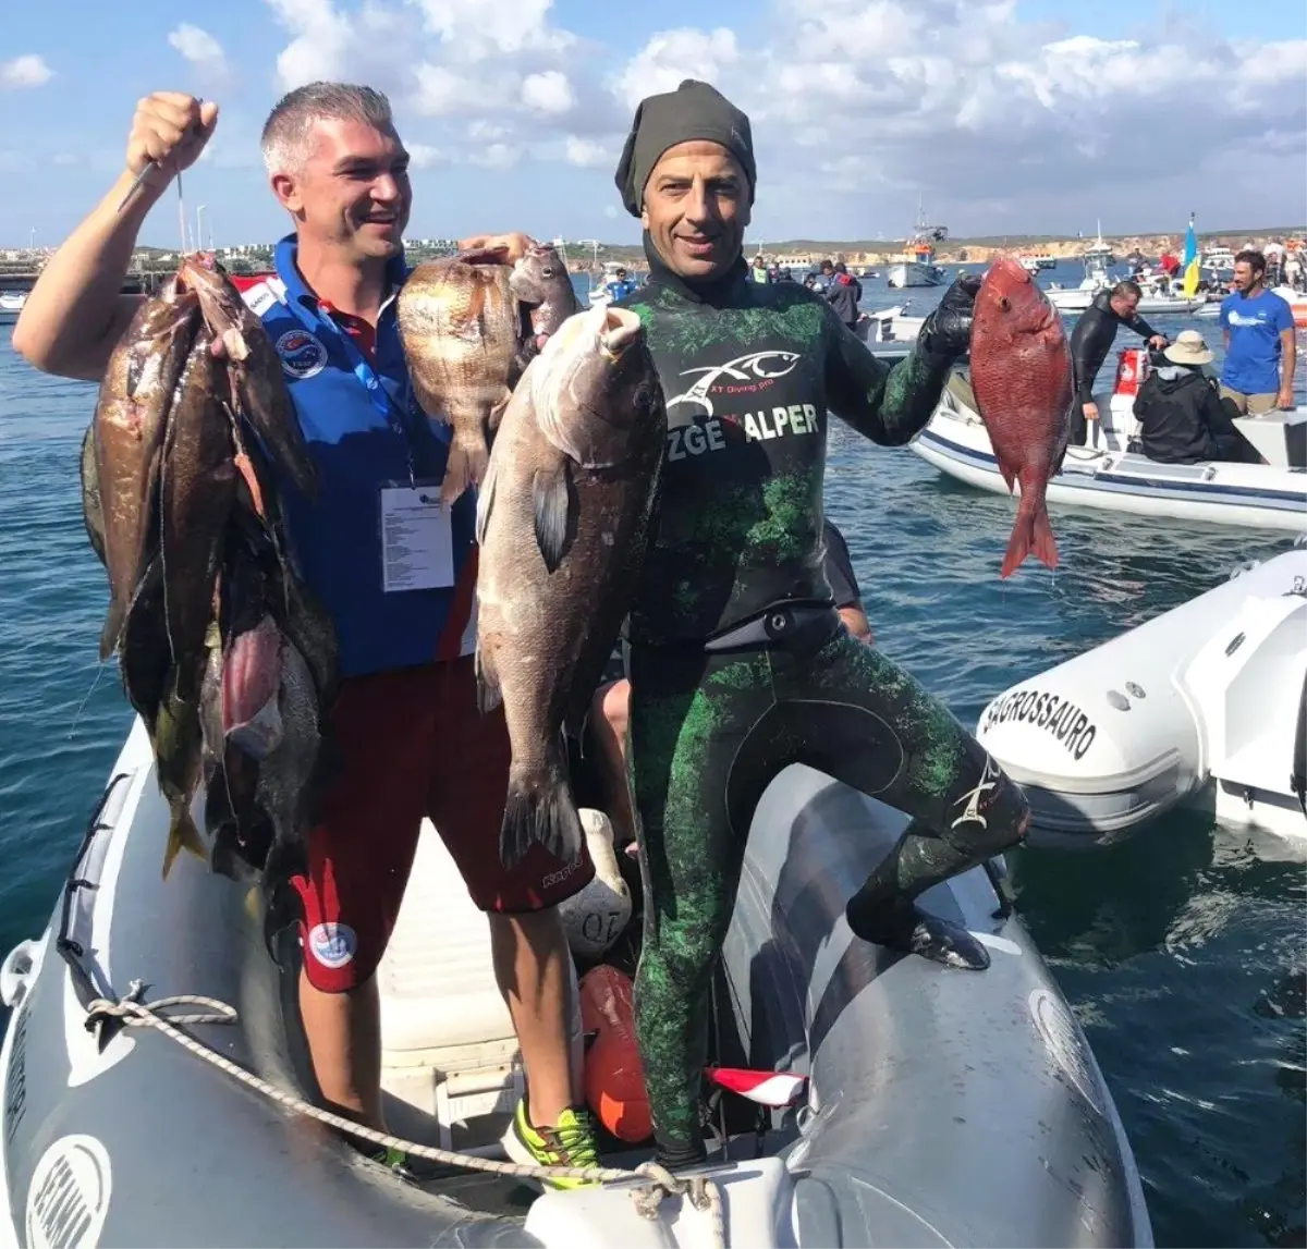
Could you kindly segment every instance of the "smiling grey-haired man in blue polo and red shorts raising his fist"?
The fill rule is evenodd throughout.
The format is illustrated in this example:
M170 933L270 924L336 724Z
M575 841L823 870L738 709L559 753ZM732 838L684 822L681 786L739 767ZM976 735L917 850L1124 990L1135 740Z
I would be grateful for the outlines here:
M190 95L141 101L124 172L51 259L14 328L14 348L37 367L103 375L140 302L119 295L137 231L216 123L217 107ZM506 1144L525 1161L591 1165L557 904L593 866L542 847L511 871L499 862L510 747L502 711L482 716L476 706L476 496L448 511L438 503L448 430L414 402L395 320L408 153L383 95L328 82L286 95L261 148L294 234L277 244L276 276L244 298L276 345L318 468L316 502L278 486L305 579L336 626L344 678L331 712L340 767L308 834L308 873L291 882L303 903L299 1007L318 1084L340 1113L384 1127L375 971L429 815L489 915L527 1069ZM119 210L150 161L156 170ZM520 255L529 240L495 242Z

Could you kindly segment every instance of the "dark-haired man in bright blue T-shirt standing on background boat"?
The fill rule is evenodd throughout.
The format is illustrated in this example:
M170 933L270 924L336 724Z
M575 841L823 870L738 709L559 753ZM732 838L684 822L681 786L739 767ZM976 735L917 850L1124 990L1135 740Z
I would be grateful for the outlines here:
M1242 251L1234 257L1234 293L1221 300L1221 397L1244 417L1294 408L1294 310L1265 280L1266 257Z

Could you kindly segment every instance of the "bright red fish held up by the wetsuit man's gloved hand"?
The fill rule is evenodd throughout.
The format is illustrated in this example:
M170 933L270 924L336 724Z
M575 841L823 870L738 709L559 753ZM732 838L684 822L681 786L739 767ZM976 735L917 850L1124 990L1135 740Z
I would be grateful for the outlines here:
M1070 440L1070 348L1057 310L1006 256L989 267L976 295L971 389L1008 490L1021 483L1000 576L1016 572L1031 550L1056 568L1057 542L1044 495Z

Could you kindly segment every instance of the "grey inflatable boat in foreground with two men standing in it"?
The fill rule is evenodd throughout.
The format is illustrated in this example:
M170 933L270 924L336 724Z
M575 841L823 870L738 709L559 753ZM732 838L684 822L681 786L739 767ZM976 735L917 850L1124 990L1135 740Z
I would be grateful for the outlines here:
M497 1142L520 1071L485 917L434 830L423 828L379 972L384 1086L392 1130L450 1147L463 1164L413 1184L298 1108L310 1078L294 1007L295 929L272 941L273 958L259 890L188 856L163 882L166 827L137 722L50 926L0 969L13 1009L0 1053L0 1241L31 1249L1153 1244L1112 1097L1010 913L1001 864L925 898L988 946L993 964L984 973L855 941L844 899L903 818L817 772L793 767L762 800L715 986L715 1063L763 1073L786 1092L719 1107L724 1127L694 1177L701 1186L661 1202L633 1199L651 1186L629 1173L647 1158L638 1150L605 1159L622 1176L570 1192L540 1193L471 1169L506 1165ZM154 1028L103 1016L105 1003L124 998L148 1006L188 994L213 1001L183 1010L234 1011L225 1023L179 1026L226 1069Z

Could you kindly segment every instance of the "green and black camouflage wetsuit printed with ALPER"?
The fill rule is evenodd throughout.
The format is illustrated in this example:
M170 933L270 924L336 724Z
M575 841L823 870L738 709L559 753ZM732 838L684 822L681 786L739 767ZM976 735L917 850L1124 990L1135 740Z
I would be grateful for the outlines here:
M891 368L796 282L749 282L741 263L697 293L648 251L650 284L621 300L668 406L659 527L629 619L647 900L635 1005L659 1155L680 1165L702 1156L711 973L776 773L806 763L914 818L848 920L953 965L985 965L984 949L912 899L1014 845L1026 805L941 703L848 635L822 567L827 409L903 444L958 348L925 350L928 321Z

